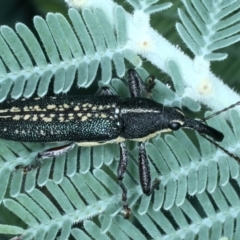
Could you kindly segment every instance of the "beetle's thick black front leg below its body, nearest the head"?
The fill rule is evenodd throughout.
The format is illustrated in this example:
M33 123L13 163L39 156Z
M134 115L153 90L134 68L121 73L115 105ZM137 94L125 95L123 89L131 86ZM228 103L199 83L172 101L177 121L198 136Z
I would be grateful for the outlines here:
M145 143L139 142L139 176L143 193L150 196L155 189L159 188L159 179L155 179L151 184L151 174L149 168L148 157L146 153ZM151 186L152 185L152 186Z

